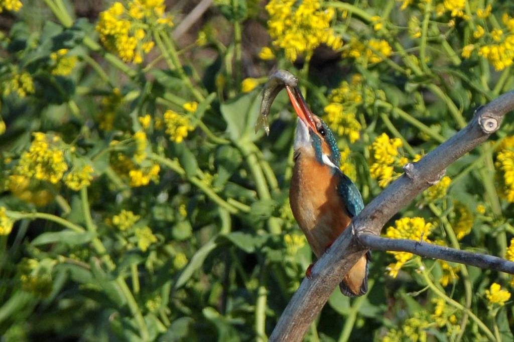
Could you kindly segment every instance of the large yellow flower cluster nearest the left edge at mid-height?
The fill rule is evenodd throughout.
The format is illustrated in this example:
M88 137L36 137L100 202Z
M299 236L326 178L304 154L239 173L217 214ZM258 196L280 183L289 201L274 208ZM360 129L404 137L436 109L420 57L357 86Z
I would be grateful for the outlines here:
M29 150L22 154L14 174L57 184L68 169L64 152L59 147L61 138L42 132L35 132L33 136L34 140Z

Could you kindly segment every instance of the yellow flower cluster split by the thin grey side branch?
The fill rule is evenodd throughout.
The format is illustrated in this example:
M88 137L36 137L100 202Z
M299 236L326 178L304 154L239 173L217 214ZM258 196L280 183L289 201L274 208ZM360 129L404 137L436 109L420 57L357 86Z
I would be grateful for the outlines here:
M387 228L386 237L390 239L423 240L425 242L430 242L430 240L428 240L428 236L432 229L433 225L430 222L425 222L424 218L402 218L395 221L395 227ZM396 278L401 266L411 259L412 254L397 251L388 251L388 253L394 255L396 263L390 264L387 269L389 271L389 275Z

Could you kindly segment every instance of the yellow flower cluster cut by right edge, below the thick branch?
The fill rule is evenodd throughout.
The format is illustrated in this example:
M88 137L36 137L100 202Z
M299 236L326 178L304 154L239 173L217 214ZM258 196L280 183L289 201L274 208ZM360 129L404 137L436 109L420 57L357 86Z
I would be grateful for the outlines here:
M506 137L496 150L494 166L499 192L508 202L514 202L514 136Z

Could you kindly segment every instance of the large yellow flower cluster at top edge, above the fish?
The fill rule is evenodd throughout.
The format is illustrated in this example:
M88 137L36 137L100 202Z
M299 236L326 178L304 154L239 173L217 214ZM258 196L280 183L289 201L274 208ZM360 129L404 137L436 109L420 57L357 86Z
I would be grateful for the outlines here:
M302 53L309 59L322 43L333 49L343 46L341 38L330 28L336 11L332 7L322 9L320 0L271 0L266 11L273 45L283 48L290 61Z

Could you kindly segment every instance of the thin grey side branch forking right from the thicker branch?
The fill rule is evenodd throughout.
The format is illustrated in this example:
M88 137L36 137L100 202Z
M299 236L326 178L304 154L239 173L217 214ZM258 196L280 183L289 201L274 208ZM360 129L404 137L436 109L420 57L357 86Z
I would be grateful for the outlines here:
M492 255L438 246L424 241L382 238L368 233L360 234L359 241L364 246L373 249L409 252L421 257L458 262L470 266L514 274L514 262Z

